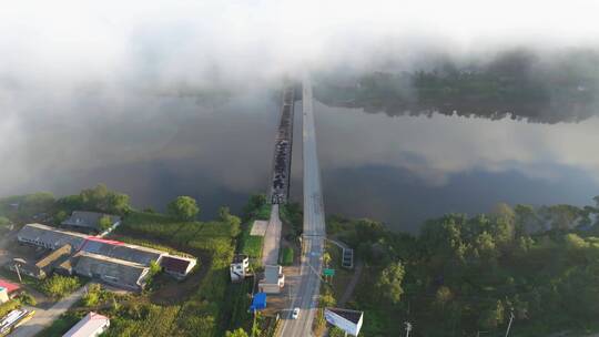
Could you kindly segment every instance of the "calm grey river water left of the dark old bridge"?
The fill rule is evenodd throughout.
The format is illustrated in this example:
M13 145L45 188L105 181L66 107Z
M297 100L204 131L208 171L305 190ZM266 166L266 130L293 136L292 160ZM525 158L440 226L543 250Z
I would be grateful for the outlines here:
M2 159L0 195L64 195L103 182L139 207L194 196L207 217L221 205L241 208L267 186L278 113L272 90L216 104L143 94L77 100L78 106L57 102L61 113L40 102L18 116L11 145L19 151Z

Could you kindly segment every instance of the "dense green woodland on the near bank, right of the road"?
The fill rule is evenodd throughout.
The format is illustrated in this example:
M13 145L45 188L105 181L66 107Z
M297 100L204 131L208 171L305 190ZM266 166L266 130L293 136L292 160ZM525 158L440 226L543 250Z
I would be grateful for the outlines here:
M598 198L596 198L599 202ZM356 300L364 336L572 336L597 331L599 205L500 204L490 214L448 214L419 235L331 217L329 234L367 263Z

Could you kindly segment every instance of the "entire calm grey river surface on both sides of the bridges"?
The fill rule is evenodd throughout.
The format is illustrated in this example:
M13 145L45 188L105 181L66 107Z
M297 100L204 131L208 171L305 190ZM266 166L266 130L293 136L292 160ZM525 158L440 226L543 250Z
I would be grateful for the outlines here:
M250 193L266 191L275 90L216 102L148 94L22 99L27 109L4 109L10 136L0 144L0 195L64 195L103 182L139 207L163 208L191 195L210 217L220 205L238 211ZM582 205L599 194L598 118L570 124L389 118L322 103L316 113L328 213L415 229L426 217L484 212L496 202ZM300 120L295 126L298 137ZM294 146L292 195L300 201L300 139Z

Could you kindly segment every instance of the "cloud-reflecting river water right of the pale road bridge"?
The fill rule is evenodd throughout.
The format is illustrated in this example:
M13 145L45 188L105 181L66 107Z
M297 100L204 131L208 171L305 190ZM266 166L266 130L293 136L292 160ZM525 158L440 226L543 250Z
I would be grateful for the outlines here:
M532 124L316 109L328 212L415 229L432 215L497 202L585 205L599 194L599 118Z

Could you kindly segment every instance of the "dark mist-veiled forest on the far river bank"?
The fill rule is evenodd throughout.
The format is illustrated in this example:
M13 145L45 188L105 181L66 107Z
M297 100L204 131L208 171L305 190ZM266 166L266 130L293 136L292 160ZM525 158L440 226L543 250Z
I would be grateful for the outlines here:
M488 62L440 55L430 63L403 72L325 73L314 92L325 104L388 115L438 112L501 119L509 114L540 123L597 115L599 54L595 51L539 55L512 50Z

